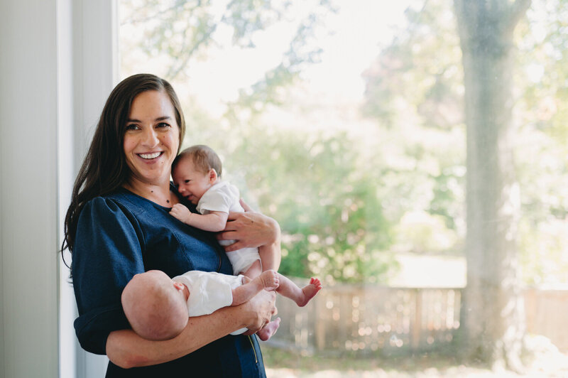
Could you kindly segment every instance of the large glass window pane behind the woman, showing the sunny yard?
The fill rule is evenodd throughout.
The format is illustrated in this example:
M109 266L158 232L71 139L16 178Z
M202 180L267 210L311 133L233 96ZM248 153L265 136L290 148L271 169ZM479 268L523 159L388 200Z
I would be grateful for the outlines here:
M121 77L173 84L324 284L278 298L269 376L568 372L565 1L119 6Z

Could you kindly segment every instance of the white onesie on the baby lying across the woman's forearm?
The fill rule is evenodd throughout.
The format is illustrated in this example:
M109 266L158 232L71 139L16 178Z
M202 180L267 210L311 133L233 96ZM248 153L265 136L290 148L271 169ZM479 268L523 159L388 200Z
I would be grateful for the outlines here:
M243 276L229 276L215 271L187 271L175 276L173 281L181 282L190 291L187 298L187 312L190 316L209 315L233 303L232 289L243 284ZM231 333L240 335L246 328Z

